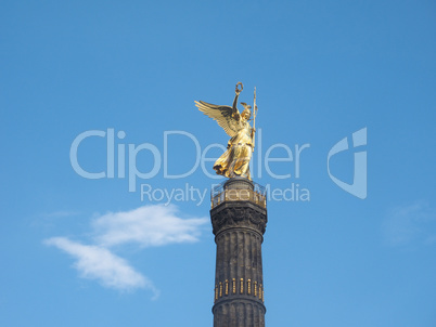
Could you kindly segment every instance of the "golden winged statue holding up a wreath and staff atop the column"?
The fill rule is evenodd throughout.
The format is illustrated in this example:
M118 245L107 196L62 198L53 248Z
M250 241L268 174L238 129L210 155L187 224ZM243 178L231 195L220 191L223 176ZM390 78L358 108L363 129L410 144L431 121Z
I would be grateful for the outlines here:
M241 86L241 89L239 89ZM244 102L242 114L238 110L236 104L243 84L238 82L233 106L219 106L203 101L195 101L195 105L203 114L215 119L225 132L231 138L227 145L227 151L218 158L214 165L217 174L235 178L242 176L252 180L249 174L249 160L252 159L255 145L255 118L257 115L256 88L254 93L254 121L253 128L249 125L252 117L252 106Z

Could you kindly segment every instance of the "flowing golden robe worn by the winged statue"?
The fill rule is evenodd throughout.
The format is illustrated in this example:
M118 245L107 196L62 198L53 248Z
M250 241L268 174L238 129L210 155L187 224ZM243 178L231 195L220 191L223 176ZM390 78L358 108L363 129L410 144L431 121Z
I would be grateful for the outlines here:
M248 166L253 155L252 127L240 115L235 118L240 129L230 139L227 151L215 162L214 169L217 174L227 178L242 176L252 180Z

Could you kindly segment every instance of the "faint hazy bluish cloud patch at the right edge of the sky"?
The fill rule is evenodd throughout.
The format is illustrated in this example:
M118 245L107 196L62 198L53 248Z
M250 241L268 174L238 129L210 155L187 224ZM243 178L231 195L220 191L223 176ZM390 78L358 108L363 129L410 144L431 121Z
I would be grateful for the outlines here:
M383 233L389 246L436 240L436 211L426 201L394 208L383 222Z

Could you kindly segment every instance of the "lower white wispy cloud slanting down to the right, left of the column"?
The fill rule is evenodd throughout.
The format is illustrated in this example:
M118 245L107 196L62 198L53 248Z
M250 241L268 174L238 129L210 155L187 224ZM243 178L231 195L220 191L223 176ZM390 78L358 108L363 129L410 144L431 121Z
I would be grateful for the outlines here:
M52 237L46 239L44 244L55 246L73 256L76 259L74 267L84 278L98 279L103 286L119 290L148 288L154 292L155 297L157 296L152 282L134 271L126 260L105 248L82 245L66 237Z

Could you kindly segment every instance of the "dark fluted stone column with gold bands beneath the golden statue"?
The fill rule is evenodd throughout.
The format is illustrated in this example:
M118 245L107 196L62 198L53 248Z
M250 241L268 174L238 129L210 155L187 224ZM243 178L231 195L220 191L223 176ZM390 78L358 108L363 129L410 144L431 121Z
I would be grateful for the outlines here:
M211 192L210 219L217 244L214 327L264 327L265 188L244 178L228 180Z

